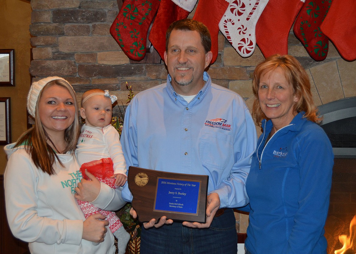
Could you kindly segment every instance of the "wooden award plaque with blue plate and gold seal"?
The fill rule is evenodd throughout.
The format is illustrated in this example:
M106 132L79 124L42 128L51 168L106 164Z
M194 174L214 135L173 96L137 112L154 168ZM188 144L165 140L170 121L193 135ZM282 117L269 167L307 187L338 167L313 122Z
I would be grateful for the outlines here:
M127 181L140 222L162 216L205 223L207 175L189 175L130 166Z

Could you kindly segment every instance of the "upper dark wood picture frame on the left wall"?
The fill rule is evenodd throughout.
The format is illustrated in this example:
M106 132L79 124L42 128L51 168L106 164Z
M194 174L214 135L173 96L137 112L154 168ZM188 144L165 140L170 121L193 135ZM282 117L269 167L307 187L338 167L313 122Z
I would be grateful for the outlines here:
M0 86L15 86L15 49L0 49Z

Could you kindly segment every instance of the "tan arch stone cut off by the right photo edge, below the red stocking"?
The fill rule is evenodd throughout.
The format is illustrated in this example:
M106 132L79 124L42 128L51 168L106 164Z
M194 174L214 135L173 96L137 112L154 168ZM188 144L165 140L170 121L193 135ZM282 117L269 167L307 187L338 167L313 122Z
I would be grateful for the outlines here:
M356 61L336 60L345 98L356 96Z

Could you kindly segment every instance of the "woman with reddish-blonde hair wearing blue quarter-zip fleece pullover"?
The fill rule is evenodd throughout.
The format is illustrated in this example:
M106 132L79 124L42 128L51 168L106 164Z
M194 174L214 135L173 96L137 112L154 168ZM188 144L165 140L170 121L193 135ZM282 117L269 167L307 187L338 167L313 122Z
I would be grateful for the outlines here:
M263 133L242 209L250 212L246 253L326 253L334 155L307 73L294 57L273 55L257 65L253 93L252 116Z

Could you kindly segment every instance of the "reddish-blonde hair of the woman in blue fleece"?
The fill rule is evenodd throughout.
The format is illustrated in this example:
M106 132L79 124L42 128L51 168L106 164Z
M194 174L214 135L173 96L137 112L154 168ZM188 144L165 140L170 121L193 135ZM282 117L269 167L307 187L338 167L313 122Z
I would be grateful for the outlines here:
M294 95L299 96L299 101L295 103L295 108L298 113L304 111L303 118L320 123L321 117L317 115L317 109L314 106L313 96L310 92L310 81L302 65L292 55L272 55L266 58L265 61L258 64L253 72L252 90L255 100L253 102L252 117L256 124L261 126L261 121L267 119L265 113L262 112L260 102L258 100L258 88L260 79L263 74L272 72L281 68L285 78L292 84Z

